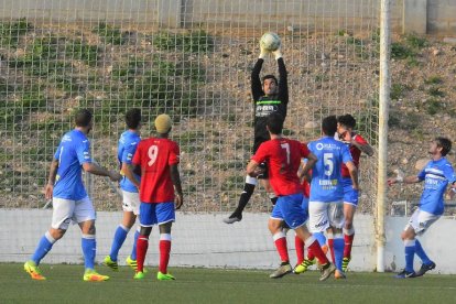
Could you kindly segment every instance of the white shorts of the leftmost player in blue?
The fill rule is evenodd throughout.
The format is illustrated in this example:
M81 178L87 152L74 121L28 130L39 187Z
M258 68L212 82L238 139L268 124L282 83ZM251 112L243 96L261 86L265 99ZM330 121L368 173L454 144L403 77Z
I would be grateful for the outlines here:
M52 205L53 213L51 227L54 229L66 230L72 220L76 224L96 218L94 205L88 196L80 200L54 197L52 199Z

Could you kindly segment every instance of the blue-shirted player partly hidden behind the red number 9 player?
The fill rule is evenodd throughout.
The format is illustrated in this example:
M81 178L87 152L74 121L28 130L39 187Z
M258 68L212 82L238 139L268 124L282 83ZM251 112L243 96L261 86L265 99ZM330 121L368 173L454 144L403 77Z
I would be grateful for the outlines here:
M140 128L141 128L141 110L133 108L126 113L126 123L128 130L124 131L119 139L117 149L117 158L120 164L122 180L120 181L120 188L122 189L122 209L123 218L115 232L112 240L111 251L109 256L106 256L104 263L117 271L119 265L117 258L119 250L122 247L128 232L133 227L137 216L139 214L139 193L140 176L135 175L131 167L131 160L133 159L137 146L141 141ZM134 232L134 242L131 254L127 258L127 264L137 270L137 240L139 236L140 227Z

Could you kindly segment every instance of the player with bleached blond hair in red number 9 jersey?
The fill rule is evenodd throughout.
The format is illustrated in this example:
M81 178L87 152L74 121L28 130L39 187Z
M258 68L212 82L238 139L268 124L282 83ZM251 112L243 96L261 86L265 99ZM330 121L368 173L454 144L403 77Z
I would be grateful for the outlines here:
M140 236L137 242L138 269L134 279L144 279L144 259L149 236L154 225L160 229L160 264L156 279L175 280L167 272L171 252L171 226L175 221L174 209L181 208L183 193L178 174L180 149L169 139L171 118L160 115L155 119L156 137L138 144L132 163L141 171L140 186Z

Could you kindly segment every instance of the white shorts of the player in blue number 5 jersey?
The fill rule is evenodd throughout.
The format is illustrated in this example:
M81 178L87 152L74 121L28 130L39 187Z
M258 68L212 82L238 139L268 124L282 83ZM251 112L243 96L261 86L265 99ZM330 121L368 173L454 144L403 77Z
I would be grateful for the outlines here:
M344 203L341 200L332 203L311 202L308 203L308 215L311 232L324 232L329 227L344 227Z

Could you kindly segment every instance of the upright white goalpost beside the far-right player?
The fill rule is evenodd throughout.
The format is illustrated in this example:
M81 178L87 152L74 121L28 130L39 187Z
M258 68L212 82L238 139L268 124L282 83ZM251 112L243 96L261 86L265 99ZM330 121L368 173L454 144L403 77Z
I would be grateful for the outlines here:
M384 272L388 111L390 104L390 0L380 0L379 165L377 184L377 271Z

